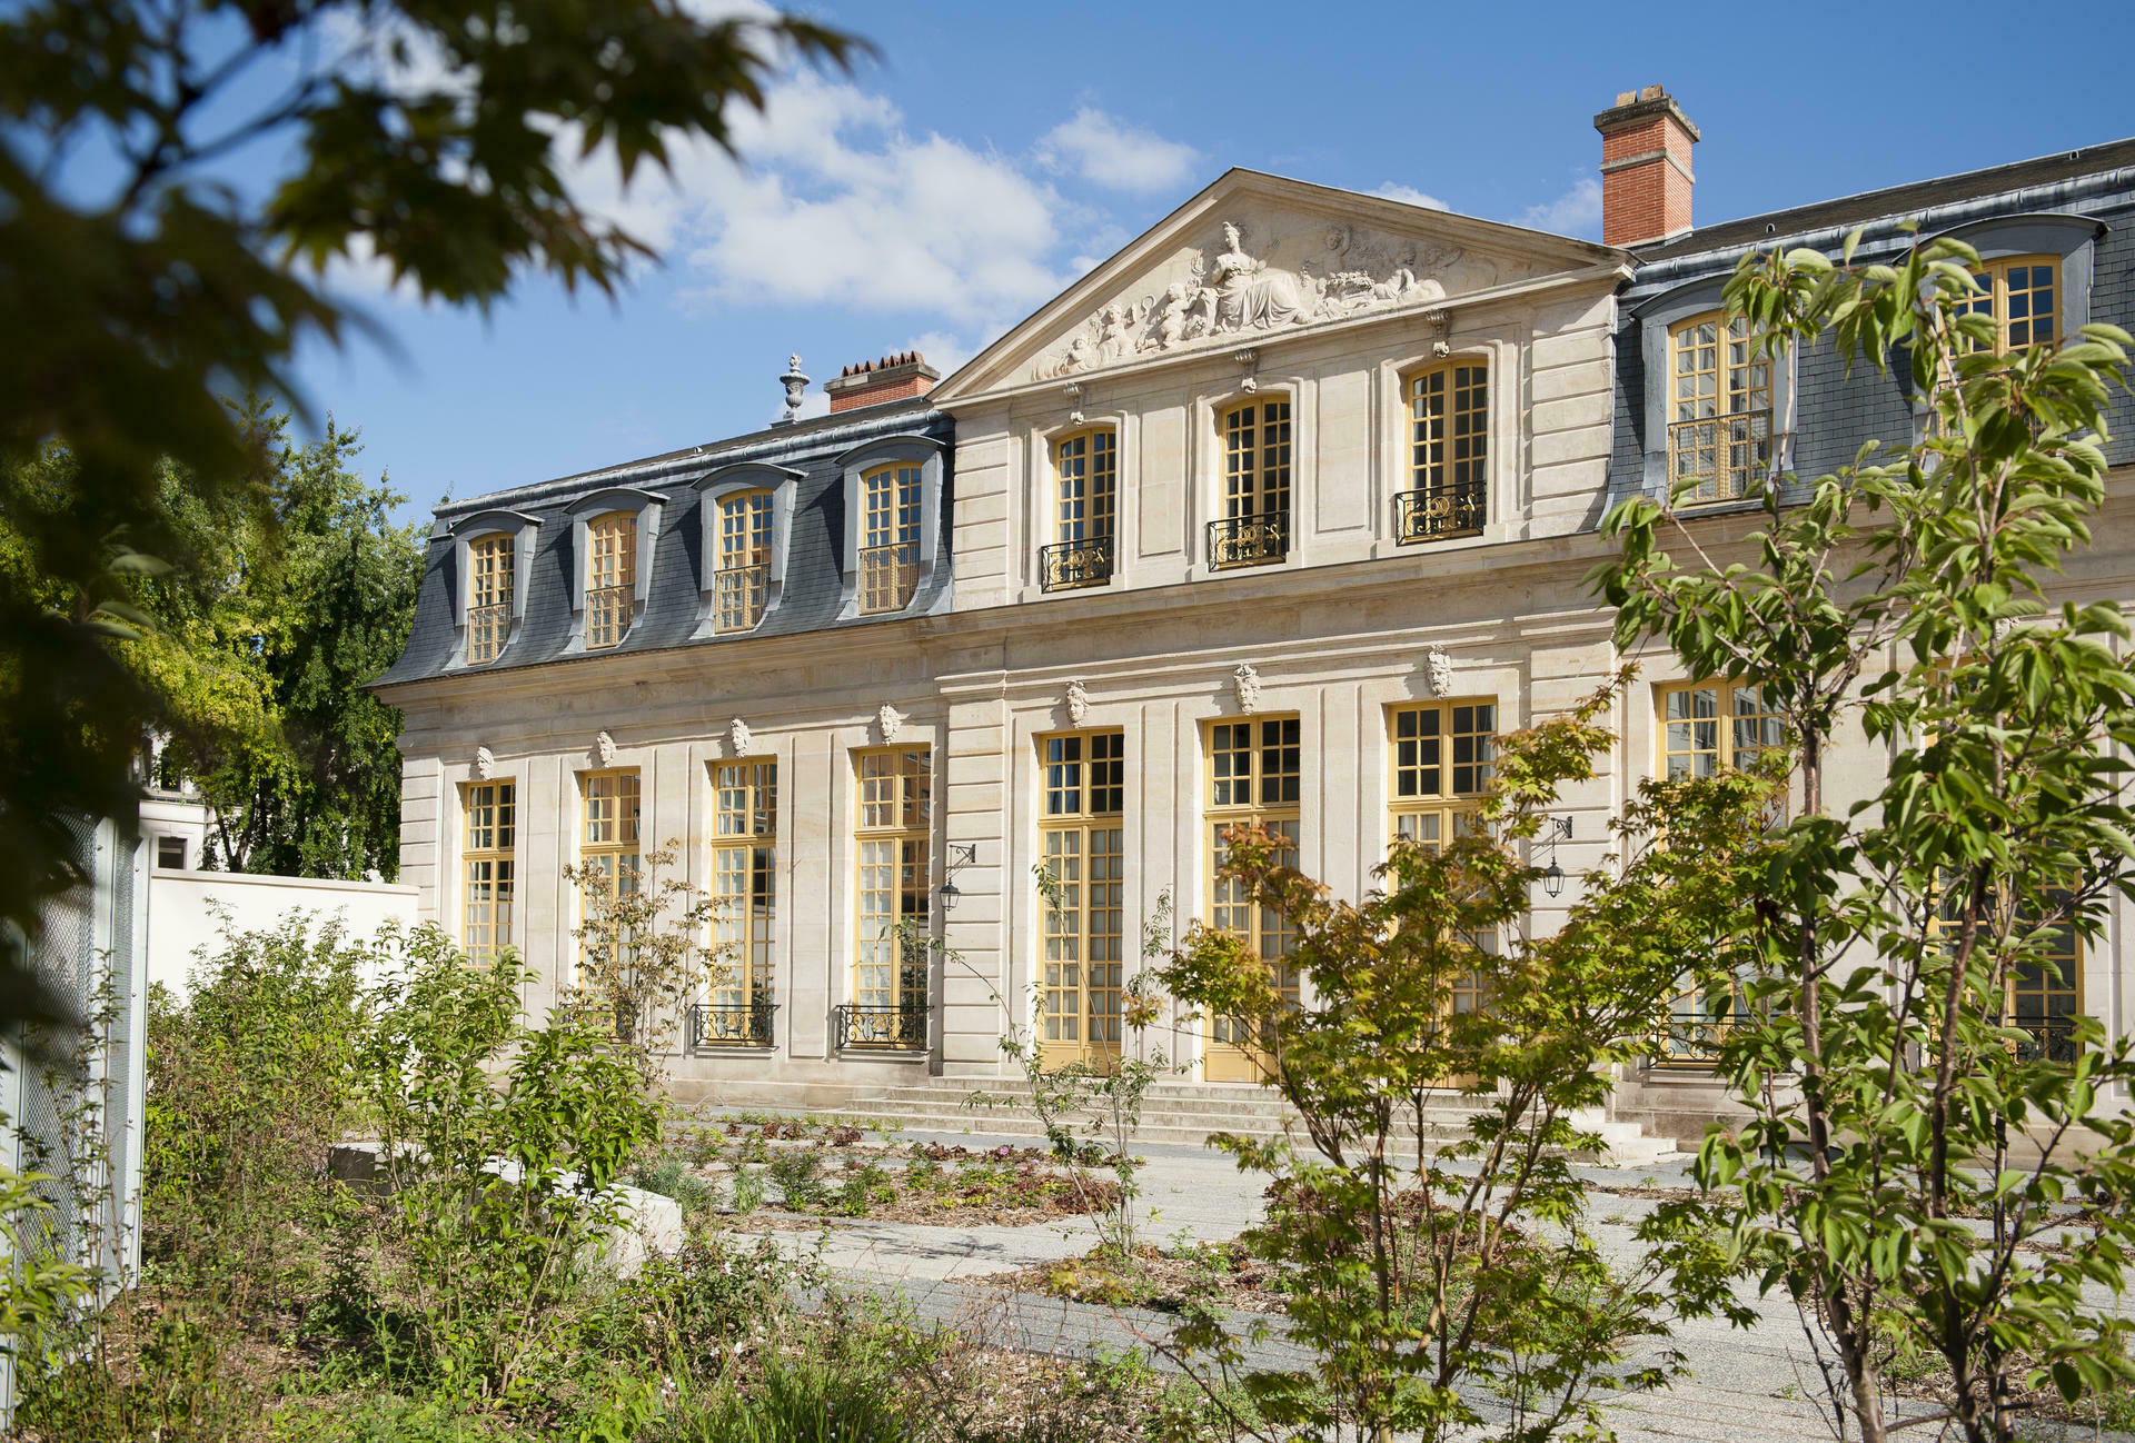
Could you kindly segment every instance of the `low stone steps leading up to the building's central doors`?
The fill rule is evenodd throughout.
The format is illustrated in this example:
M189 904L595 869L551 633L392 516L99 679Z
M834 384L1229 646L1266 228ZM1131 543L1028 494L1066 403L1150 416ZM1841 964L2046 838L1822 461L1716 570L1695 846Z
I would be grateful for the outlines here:
M989 1099L991 1106L976 1101ZM929 1078L914 1087L892 1087L875 1097L858 1097L837 1108L841 1116L895 1119L907 1131L980 1133L999 1138L1042 1138L1044 1125L1031 1106L1029 1082L1021 1078ZM1467 1136L1473 1108L1448 1101L1424 1110L1424 1142L1443 1144ZM1140 1125L1129 1133L1138 1144L1206 1146L1228 1131L1240 1138L1279 1138L1285 1127L1302 1138L1298 1112L1264 1087L1157 1082L1142 1095ZM1588 1121L1608 1151L1597 1161L1640 1168L1674 1157L1672 1138L1648 1138L1638 1123ZM1078 1119L1080 1131L1080 1119ZM1416 1133L1403 1127L1403 1138Z

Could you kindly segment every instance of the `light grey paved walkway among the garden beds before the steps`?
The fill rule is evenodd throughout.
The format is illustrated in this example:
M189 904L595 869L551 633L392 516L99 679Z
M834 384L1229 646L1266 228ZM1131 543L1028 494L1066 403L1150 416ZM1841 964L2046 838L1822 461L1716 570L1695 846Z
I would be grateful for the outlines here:
M907 1131L903 1142L997 1146L1027 1138L995 1138L984 1131ZM1234 1238L1260 1219L1262 1174L1243 1174L1230 1157L1204 1148L1140 1146L1144 1232L1151 1240L1217 1242ZM1689 1157L1631 1170L1582 1168L1601 1187L1680 1187L1689 1183ZM1597 1195L1595 1236L1603 1249L1631 1255L1633 1230L1657 1204L1642 1198ZM984 1281L1040 1262L1087 1253L1097 1242L1089 1219L1059 1219L1023 1227L841 1221L820 1234L773 1234L792 1251L816 1251L837 1272L895 1287L914 1311L956 1323L999 1347L1085 1355L1095 1349L1144 1347L1164 1338L1172 1319L1144 1309L1110 1309L1033 1294L1008 1294ZM1676 1336L1693 1358L1693 1375L1661 1394L1623 1398L1612 1407L1625 1443L1832 1443L1828 1413L1808 1343L1793 1304L1757 1298L1755 1328L1723 1321L1687 1321ZM2103 1300L2105 1294L2101 1291ZM1144 1349L1146 1351L1146 1349ZM1262 1345L1253 1362L1300 1366L1302 1349L1283 1341ZM1159 1366L1166 1366L1157 1360ZM1930 1443L1936 1428L1913 1428L1907 1437ZM1954 1434L1951 1434L1954 1437ZM2039 1443L2135 1443L2135 1434L2099 1434L2092 1428L2037 1424L2026 1439Z

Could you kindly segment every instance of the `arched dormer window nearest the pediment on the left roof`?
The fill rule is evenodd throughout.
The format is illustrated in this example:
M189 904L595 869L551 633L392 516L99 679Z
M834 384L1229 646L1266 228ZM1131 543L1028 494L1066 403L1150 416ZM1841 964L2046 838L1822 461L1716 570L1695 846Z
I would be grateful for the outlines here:
M942 551L946 448L884 435L837 459L845 478L845 583L839 619L897 617L948 604Z

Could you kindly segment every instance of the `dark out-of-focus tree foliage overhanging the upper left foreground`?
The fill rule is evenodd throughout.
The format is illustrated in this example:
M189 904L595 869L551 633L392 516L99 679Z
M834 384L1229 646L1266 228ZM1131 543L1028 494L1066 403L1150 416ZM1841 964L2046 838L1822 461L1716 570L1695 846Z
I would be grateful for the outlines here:
M487 307L527 273L613 295L649 252L572 199L566 166L608 152L630 177L675 143L728 145L777 64L843 64L856 45L679 0L11 11L0 514L23 517L23 566L0 572L0 920L34 931L38 899L79 882L68 813L137 800L132 758L164 711L113 640L143 625L130 578L175 542L164 467L211 508L265 510L263 438L224 397L295 397L297 346L342 339L318 267L376 258L453 305ZM280 158L265 194L220 169L237 154ZM56 444L73 504L41 508L34 463ZM314 694L348 666L314 662ZM361 743L333 747L352 760ZM333 809L299 811L299 847L333 854Z

